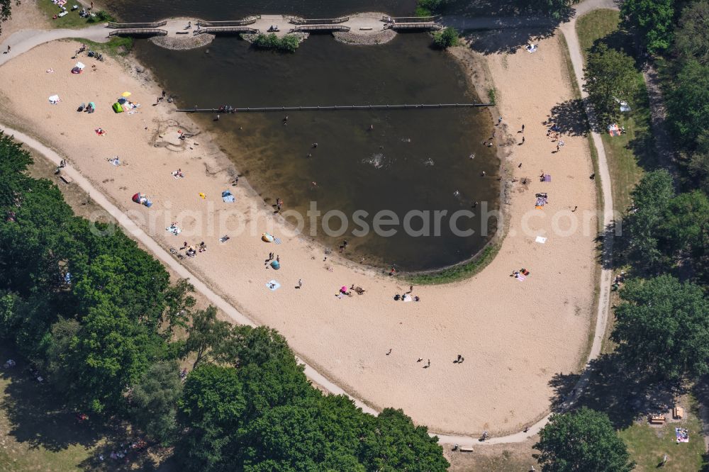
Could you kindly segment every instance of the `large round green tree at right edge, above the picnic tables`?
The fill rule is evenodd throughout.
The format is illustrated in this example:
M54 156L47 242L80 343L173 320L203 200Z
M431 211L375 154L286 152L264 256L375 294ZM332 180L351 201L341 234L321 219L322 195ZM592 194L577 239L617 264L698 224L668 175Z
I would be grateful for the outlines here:
M626 364L671 381L709 372L709 304L702 288L661 275L620 291L611 339Z

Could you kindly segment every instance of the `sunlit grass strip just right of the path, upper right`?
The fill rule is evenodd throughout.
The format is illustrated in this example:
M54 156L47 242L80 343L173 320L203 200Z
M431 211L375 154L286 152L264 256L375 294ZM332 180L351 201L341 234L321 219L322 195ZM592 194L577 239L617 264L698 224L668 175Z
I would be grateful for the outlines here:
M596 10L581 16L576 21L581 48L588 51L602 40L609 47L630 52L630 38L618 31L619 22L618 11L614 10ZM608 133L601 133L608 158L613 203L620 213L630 206L630 191L642 174L656 164L649 101L641 72L637 73L637 83L637 94L629 103L632 111L623 113L618 120L618 125L625 126L625 135L610 137Z

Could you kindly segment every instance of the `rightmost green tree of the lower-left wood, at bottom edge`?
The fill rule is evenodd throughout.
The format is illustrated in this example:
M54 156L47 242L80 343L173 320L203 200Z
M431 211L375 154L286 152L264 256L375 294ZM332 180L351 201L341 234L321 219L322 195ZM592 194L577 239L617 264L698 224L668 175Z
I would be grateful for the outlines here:
M362 463L368 471L447 471L437 437L415 426L401 410L384 408L364 437Z

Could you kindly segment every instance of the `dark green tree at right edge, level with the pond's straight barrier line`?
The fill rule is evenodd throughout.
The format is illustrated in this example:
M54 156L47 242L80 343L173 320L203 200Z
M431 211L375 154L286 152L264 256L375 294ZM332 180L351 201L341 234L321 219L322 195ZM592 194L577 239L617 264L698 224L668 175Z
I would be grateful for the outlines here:
M669 123L679 147L693 150L701 135L709 133L709 64L688 60L667 94Z

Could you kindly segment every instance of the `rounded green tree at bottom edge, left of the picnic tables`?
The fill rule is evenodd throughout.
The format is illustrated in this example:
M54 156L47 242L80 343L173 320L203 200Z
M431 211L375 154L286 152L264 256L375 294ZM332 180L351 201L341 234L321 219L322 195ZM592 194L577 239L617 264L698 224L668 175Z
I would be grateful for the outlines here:
M552 415L534 454L543 472L626 472L635 468L605 413L586 407Z

